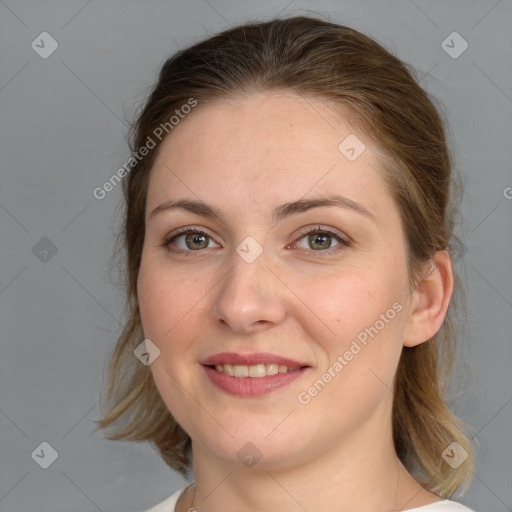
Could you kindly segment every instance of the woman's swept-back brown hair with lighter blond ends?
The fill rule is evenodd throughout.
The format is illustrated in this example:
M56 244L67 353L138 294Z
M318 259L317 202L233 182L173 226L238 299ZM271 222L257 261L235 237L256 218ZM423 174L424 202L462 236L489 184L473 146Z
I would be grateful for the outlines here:
M435 251L446 249L453 256L456 212L444 123L414 76L407 64L352 28L302 16L248 23L165 62L132 126L132 154L191 99L200 108L216 98L279 89L330 99L382 152L383 175L401 212L414 286L419 268ZM111 406L97 424L116 428L107 439L149 441L169 466L187 475L191 440L165 406L150 368L133 355L143 340L137 277L150 171L159 146L157 141L145 158L133 159L123 181L125 214L118 243L124 244L128 317L108 368L106 396ZM403 348L395 376L392 421L397 454L427 490L443 497L452 496L462 484L469 486L474 465L466 425L445 398L457 360L455 313L462 299L455 274L455 293L441 329L428 342ZM452 442L468 453L456 469L442 458Z

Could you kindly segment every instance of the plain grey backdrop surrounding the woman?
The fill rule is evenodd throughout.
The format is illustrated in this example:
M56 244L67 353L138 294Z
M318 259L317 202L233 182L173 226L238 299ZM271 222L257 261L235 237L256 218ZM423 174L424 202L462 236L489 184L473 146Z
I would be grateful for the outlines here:
M126 161L123 120L171 53L247 19L308 12L372 35L444 106L466 179L459 232L480 377L455 403L479 445L457 499L512 509L510 0L0 0L1 511L141 511L184 484L148 445L92 433L123 319L108 273L121 190L92 191ZM31 48L43 31L59 45L47 59ZM469 44L456 59L441 47L453 31ZM58 453L47 469L31 456L42 442Z

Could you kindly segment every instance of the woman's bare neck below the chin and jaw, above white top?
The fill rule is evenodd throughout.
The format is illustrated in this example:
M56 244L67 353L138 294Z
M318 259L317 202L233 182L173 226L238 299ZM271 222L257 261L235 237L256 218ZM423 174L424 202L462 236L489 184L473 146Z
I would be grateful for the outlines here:
M400 463L391 427L381 436L368 434L361 430L300 465L279 468L245 468L193 444L196 485L176 510L383 512L439 501Z

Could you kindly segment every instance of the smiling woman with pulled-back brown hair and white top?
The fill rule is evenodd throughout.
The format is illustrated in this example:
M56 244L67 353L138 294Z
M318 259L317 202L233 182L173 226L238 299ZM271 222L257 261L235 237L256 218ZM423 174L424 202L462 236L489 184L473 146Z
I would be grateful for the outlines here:
M151 511L470 510L451 161L407 66L314 18L236 27L165 63L133 141L98 423L193 463Z

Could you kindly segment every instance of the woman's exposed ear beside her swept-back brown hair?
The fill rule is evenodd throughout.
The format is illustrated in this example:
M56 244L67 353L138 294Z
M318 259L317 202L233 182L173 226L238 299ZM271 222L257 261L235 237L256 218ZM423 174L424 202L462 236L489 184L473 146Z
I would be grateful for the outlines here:
M436 252L433 268L412 292L404 346L430 340L441 328L453 292L453 269L447 251Z

